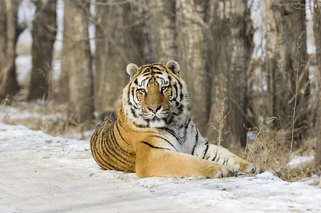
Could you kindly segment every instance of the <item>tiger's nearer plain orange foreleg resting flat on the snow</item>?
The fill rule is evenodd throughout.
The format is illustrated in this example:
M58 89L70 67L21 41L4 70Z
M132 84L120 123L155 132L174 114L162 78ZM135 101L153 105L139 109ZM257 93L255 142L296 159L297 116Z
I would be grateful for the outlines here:
M235 175L228 166L156 147L148 142L138 142L135 149L138 177L221 178Z

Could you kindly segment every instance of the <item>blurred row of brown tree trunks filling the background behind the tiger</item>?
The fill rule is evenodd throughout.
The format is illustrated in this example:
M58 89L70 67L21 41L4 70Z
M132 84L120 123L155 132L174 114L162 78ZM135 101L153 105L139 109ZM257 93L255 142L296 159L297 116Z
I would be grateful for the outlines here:
M27 21L22 4L33 14ZM115 120L126 64L176 59L196 126L225 147L245 146L259 116L276 117L267 124L291 138L298 85L300 146L321 129L320 8L317 0L3 0L0 96L26 89L30 101L68 104L74 123ZM14 63L24 28L32 37L27 87L17 83Z

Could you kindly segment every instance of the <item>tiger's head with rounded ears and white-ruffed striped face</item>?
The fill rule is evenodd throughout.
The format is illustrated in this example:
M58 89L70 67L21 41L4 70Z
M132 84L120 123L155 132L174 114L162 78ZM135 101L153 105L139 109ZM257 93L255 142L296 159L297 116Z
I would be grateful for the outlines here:
M126 117L136 125L158 128L187 117L189 98L179 70L176 60L140 67L129 63L130 82L122 98Z

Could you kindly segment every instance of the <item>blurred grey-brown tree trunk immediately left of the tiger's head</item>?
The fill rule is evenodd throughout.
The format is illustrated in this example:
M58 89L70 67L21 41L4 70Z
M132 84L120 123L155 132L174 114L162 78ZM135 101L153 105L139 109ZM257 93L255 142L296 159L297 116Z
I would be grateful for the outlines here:
M108 2L100 0L97 2ZM122 90L129 82L126 73L126 65L129 59L122 57L116 50L117 46L126 53L126 39L123 26L123 5L97 6L96 17L100 24L96 25L96 51L95 51L95 108L102 119L109 116L108 113L116 112L119 105ZM112 43L107 35L114 38Z

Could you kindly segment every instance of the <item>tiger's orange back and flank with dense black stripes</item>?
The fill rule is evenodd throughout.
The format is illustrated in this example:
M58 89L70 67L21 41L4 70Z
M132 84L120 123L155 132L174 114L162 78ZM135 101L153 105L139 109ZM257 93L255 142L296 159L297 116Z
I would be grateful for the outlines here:
M136 154L122 131L121 121L117 119L98 128L91 137L92 155L103 170L135 172Z

